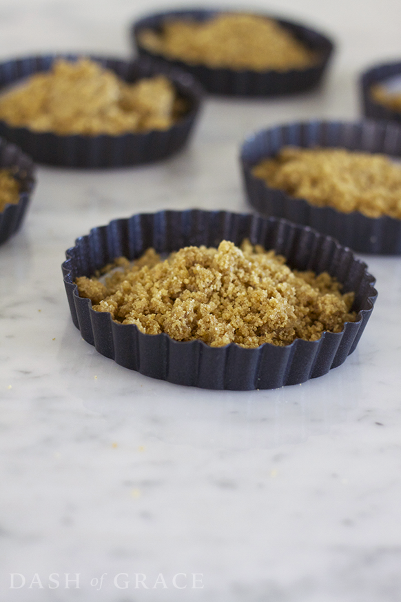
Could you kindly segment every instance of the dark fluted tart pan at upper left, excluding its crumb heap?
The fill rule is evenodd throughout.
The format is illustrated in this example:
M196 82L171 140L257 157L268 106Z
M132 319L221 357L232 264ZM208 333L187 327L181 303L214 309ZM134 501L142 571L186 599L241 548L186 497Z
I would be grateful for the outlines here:
M39 71L50 70L52 63L59 58L74 61L79 56L50 54L0 63L0 93L5 86L9 87ZM116 136L64 136L52 132L34 132L28 128L14 128L5 121L0 121L0 135L21 146L37 163L74 168L116 168L148 163L165 159L183 148L194 126L202 97L199 84L189 74L146 58L132 62L104 57L90 58L130 83L154 74L166 75L174 83L178 93L187 100L187 114L165 131L150 130Z

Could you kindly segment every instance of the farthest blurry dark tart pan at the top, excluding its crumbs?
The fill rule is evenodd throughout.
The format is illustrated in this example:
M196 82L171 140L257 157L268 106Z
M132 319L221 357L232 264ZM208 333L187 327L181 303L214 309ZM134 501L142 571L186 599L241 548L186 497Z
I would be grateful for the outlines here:
M289 30L298 40L311 50L320 54L320 61L305 69L291 69L288 71L253 71L234 70L228 68L210 68L200 64L190 64L184 61L172 60L162 54L150 52L141 46L139 34L144 29L161 31L163 23L172 19L191 19L192 21L207 21L217 14L229 12L228 10L174 10L159 12L136 21L132 26L132 39L140 56L150 56L163 60L166 64L175 65L192 73L207 92L212 94L225 94L230 96L277 96L280 94L293 94L311 90L320 83L323 72L327 67L333 43L319 32L309 29L300 23L284 21L272 15L261 15L274 19L282 27ZM232 12L232 11L231 11Z

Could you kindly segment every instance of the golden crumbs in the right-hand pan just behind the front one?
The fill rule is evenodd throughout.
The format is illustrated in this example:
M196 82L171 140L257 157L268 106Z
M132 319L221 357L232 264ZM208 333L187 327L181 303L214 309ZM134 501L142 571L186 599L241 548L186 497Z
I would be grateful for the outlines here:
M383 154L289 146L260 161L252 173L317 207L401 219L401 168Z

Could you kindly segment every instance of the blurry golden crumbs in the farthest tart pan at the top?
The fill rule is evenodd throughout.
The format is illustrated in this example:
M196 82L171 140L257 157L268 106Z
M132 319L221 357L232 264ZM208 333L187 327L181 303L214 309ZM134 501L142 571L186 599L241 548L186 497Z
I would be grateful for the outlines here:
M150 52L212 68L287 71L307 68L317 58L276 21L253 14L166 21L161 32L143 30L139 41Z

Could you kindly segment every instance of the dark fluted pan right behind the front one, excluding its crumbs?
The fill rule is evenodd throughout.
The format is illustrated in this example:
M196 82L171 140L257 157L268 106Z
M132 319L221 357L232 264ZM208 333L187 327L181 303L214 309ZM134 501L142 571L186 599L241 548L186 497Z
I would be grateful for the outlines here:
M338 147L401 156L401 128L391 123L362 121L307 121L289 123L251 135L243 143L240 161L249 203L264 215L285 217L329 234L360 253L401 254L401 220L343 213L331 207L315 207L282 190L269 188L251 170L256 163L274 157L283 146Z

